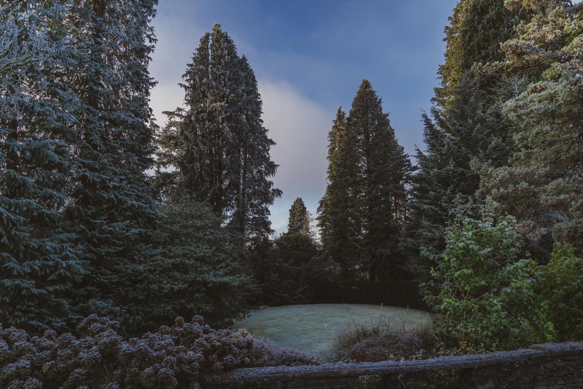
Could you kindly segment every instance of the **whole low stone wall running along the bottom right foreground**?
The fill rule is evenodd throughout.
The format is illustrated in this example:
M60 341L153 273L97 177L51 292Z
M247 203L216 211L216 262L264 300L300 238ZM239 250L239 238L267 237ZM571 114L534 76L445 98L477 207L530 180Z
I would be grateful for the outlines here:
M202 388L583 388L583 342L404 362L237 369L201 377Z

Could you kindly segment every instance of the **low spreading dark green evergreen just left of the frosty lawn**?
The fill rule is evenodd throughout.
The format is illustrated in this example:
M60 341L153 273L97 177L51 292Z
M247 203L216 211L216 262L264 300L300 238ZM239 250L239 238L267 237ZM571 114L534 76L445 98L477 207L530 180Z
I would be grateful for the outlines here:
M163 219L152 237L156 255L129 269L127 284L115 294L126 307L124 331L139 334L170 325L168 314L205 315L215 327L243 319L257 290L244 252L234 244L238 239L206 204L187 197L163 204L160 213Z

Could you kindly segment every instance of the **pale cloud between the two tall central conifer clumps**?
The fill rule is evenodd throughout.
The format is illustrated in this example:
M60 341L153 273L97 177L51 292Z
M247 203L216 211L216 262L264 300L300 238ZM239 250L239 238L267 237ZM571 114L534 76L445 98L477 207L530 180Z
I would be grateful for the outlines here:
M301 95L286 82L259 79L265 127L277 144L271 157L280 165L273 182L283 191L271 207L272 228L287 230L288 210L301 197L315 216L326 188L326 147L335 112Z

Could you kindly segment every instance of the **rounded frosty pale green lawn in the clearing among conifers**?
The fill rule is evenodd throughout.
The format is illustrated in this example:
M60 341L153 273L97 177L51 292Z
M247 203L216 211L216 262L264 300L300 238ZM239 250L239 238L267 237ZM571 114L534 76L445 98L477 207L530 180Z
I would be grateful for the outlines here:
M363 321L382 312L384 315L403 315L405 308L381 307L368 304L307 304L286 305L252 312L250 317L233 325L246 328L254 336L271 339L280 347L292 347L328 360L336 329L350 318ZM427 312L408 310L410 320L427 319Z

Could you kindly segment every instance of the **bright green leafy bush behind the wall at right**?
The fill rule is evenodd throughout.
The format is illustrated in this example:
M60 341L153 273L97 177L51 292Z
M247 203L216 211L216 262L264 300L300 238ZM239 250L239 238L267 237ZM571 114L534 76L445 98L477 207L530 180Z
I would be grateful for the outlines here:
M441 338L496 349L582 338L583 260L560 244L548 265L519 259L519 225L495 209L490 200L459 206L445 250L425 253L437 263L422 287Z

